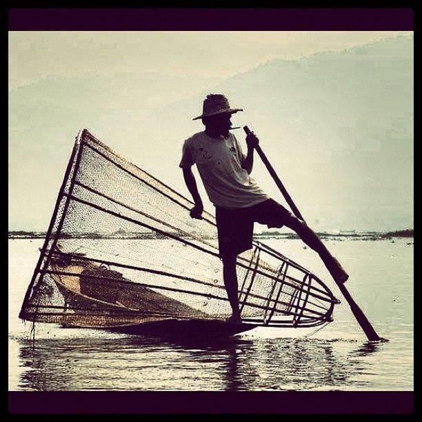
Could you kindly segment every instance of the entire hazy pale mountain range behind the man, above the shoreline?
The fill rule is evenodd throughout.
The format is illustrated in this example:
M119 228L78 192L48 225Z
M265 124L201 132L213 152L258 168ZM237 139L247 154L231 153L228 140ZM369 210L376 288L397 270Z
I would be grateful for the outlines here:
M411 227L413 79L413 39L396 37L274 59L223 81L152 72L34 81L9 92L9 227L46 228L83 127L190 197L181 145L203 129L192 118L210 92L245 110L234 125L258 134L314 230ZM234 133L245 148L243 131ZM252 177L283 203L258 158Z

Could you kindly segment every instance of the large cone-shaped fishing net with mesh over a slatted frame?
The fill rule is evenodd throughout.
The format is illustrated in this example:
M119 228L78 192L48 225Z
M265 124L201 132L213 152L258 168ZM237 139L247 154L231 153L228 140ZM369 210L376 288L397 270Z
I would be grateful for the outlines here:
M223 319L214 216L83 130L74 145L21 318L79 327L163 319ZM330 321L330 290L294 261L254 241L237 259L243 321Z

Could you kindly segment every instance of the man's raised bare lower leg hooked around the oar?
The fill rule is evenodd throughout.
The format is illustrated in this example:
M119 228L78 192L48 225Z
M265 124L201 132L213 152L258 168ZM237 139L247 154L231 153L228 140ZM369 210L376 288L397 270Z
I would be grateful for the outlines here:
M302 241L319 254L334 281L337 283L345 283L345 281L348 280L348 273L345 272L339 261L330 254L328 249L325 248L321 239L316 236L305 221L292 216L292 218L285 223L285 226L297 232Z

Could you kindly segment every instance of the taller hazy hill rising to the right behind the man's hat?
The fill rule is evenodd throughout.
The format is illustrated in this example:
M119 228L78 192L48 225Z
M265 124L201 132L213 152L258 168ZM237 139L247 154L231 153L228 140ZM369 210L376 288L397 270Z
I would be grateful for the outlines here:
M413 223L413 78L413 39L396 37L274 59L161 114L174 121L188 110L193 117L206 93L224 92L245 110L234 114L234 125L248 124L259 135L310 225L388 230ZM180 124L179 132L188 134L187 127ZM234 133L244 139L242 130ZM253 176L283 201L255 162Z

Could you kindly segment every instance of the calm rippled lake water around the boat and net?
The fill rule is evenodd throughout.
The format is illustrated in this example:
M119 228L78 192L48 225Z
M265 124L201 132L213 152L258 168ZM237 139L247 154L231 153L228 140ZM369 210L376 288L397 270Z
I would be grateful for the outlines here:
M32 341L18 314L42 243L9 240L9 390L413 390L413 239L325 241L382 343L366 341L344 300L318 332L257 328L189 342L36 324ZM342 299L301 241L265 243Z

